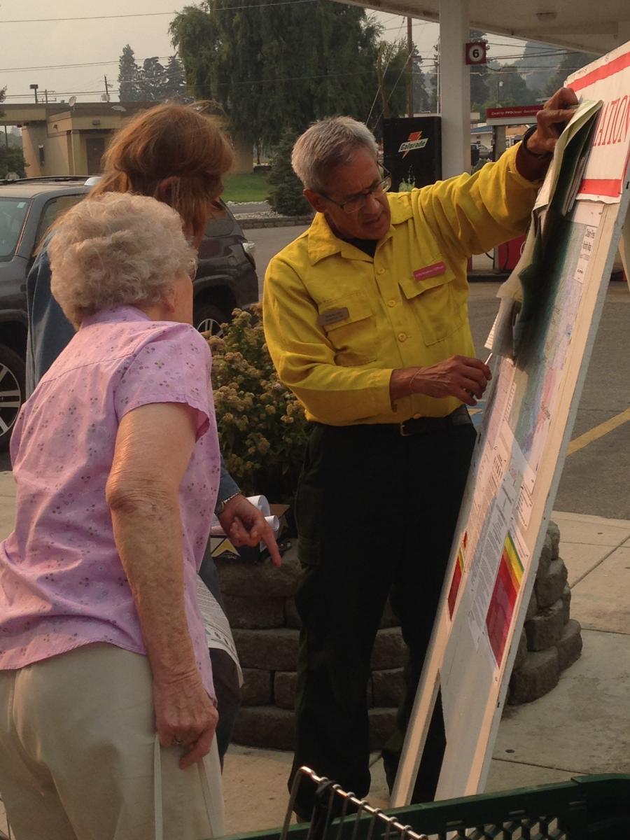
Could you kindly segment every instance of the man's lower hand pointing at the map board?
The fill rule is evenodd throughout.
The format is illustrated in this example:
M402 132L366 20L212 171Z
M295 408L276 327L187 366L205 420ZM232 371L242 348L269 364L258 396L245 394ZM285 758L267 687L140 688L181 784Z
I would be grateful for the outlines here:
M490 368L480 359L451 356L437 365L416 368L408 382L412 394L425 394L438 399L456 396L467 406L475 406L491 378Z

